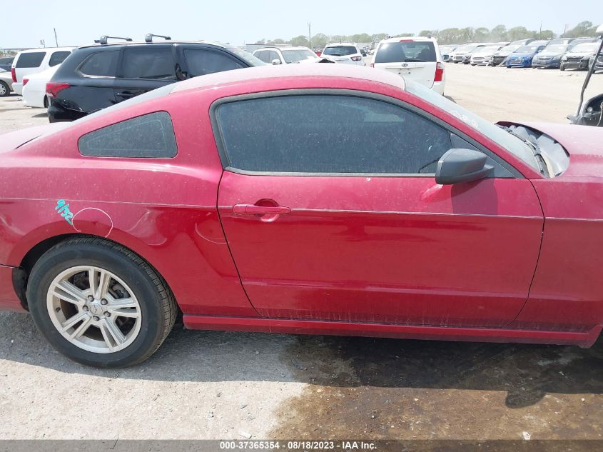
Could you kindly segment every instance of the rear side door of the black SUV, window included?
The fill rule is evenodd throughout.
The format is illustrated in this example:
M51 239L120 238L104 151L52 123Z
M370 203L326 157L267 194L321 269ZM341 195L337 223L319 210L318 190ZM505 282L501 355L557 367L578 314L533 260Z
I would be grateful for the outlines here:
M176 51L171 44L124 46L113 84L116 102L177 81Z

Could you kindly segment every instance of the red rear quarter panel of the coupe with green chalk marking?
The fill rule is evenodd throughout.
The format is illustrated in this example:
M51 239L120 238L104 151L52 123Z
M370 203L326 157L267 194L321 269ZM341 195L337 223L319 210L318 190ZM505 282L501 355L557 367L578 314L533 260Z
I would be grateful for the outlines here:
M19 266L25 254L46 238L87 233L121 243L145 258L166 279L185 313L256 316L218 219L222 168L208 119L201 110L194 113L195 99L171 100L158 99L151 111L155 105L171 113L178 143L174 159L78 153L76 140L82 131L146 113L148 104L76 124L44 141L0 154L0 263ZM173 108L187 102L191 108ZM57 147L64 150L64 157L48 156ZM73 225L56 209L61 199L74 214Z

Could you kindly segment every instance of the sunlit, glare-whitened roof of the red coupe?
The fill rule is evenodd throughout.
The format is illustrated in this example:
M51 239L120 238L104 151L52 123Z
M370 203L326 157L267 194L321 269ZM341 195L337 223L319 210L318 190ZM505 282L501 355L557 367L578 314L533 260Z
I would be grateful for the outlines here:
M283 64L278 66L256 66L234 71L218 72L202 77L193 77L174 84L171 93L193 89L214 88L220 85L231 85L246 81L262 79L295 79L296 77L335 77L340 79L361 79L405 89L405 81L397 74L388 71L377 71L363 66L348 64Z

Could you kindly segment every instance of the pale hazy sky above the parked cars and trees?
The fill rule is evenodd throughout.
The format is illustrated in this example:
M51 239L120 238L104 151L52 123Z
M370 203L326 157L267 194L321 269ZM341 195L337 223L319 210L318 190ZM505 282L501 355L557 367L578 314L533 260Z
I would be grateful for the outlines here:
M504 24L551 29L557 34L580 21L603 23L600 0L382 0L286 1L229 0L171 2L156 0L21 2L28 9L7 16L0 27L0 48L89 44L103 34L142 40L146 33L173 39L206 39L250 44L259 39L290 39L308 34L400 34L423 29ZM293 6L295 5L295 6Z

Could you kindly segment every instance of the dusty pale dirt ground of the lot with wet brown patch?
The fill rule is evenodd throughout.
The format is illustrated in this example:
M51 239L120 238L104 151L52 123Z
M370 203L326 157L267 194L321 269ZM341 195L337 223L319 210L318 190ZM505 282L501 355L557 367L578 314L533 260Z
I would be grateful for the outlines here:
M564 122L584 73L447 64L487 119ZM603 75L596 76L603 91ZM45 124L17 96L0 131ZM0 438L601 439L603 340L562 346L175 330L149 361L68 361L0 313Z

